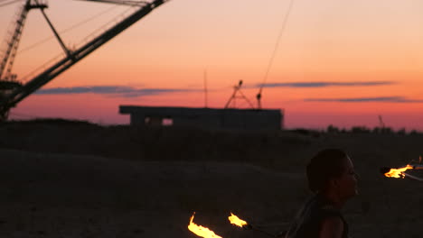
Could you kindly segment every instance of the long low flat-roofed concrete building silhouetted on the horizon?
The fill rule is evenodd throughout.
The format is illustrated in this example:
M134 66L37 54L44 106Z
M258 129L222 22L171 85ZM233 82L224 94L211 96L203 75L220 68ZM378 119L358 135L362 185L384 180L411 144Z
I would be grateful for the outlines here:
M130 114L134 126L178 126L204 129L280 130L281 109L214 109L120 105L120 114Z

